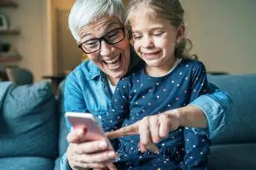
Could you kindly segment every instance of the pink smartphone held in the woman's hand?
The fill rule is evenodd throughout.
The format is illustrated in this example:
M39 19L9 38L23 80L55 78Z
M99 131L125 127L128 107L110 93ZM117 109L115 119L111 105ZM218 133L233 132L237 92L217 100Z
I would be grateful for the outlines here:
M66 112L66 118L72 124L72 127L85 126L87 127L87 133L85 139L87 141L99 141L105 139L108 142L109 150L113 150L114 148L111 145L111 142L105 136L102 127L96 118L90 113L79 113L79 112Z

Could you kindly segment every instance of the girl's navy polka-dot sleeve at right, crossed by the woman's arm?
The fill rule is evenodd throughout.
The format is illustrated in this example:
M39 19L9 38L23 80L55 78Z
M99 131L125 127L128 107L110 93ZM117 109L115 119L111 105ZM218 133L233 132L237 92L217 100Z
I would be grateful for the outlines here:
M190 102L208 92L206 68L199 62L192 70ZM206 135L194 133L192 128L184 127L185 155L187 169L204 169L206 167L211 140Z

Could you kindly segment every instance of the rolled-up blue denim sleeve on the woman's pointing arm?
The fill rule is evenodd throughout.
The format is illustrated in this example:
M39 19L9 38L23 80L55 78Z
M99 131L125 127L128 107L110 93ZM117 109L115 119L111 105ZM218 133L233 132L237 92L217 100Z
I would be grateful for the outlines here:
M194 132L205 134L209 139L213 139L221 132L225 122L233 117L234 106L226 92L219 90L212 83L209 83L208 89L209 94L198 97L190 105L199 107L208 121L208 128L193 128Z

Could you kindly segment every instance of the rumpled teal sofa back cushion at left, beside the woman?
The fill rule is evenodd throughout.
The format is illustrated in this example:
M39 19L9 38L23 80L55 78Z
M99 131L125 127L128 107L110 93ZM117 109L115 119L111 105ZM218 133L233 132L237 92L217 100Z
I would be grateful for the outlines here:
M0 112L0 157L56 158L58 126L49 82L11 85Z

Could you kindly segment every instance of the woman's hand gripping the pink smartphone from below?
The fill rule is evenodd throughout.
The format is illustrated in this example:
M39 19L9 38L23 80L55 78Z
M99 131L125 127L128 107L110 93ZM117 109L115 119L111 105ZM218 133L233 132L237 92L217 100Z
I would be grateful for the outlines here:
M108 142L102 141L86 142L84 136L86 128L79 127L72 129L67 136L69 147L66 157L69 166L74 170L80 169L116 169L109 160L115 159L117 156L114 151L106 151Z

